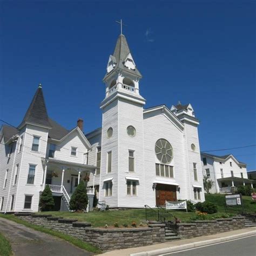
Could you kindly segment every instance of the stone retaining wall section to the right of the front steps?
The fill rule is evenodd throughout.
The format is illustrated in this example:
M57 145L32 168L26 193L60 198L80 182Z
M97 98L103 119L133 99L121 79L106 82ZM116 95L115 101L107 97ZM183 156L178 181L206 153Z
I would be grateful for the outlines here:
M181 238L200 237L201 235L217 234L245 227L244 217L228 219L196 220L192 223L178 224L178 235Z

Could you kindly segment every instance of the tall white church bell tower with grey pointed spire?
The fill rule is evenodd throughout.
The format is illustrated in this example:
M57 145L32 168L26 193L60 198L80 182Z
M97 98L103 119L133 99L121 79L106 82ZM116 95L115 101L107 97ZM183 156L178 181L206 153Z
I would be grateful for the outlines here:
M141 78L121 32L107 63L103 78L106 94L100 104L103 120L99 200L106 201L110 207L127 207L129 201L132 207L143 207L145 203L145 99L139 91Z

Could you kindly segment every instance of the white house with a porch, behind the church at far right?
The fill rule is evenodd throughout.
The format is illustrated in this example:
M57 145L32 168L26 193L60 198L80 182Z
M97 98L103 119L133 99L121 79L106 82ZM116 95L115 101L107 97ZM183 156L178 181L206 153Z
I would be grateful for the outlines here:
M201 164L203 175L214 182L210 193L231 192L232 186L250 184L253 187L255 183L247 177L246 164L238 161L232 154L215 156L201 152Z

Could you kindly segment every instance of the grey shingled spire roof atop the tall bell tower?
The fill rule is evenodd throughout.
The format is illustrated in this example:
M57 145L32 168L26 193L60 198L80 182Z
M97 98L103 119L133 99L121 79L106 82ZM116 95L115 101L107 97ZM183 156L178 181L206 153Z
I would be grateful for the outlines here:
M128 73L132 73L133 75L142 78L142 75L140 74L137 67L135 68L135 70L131 70L131 69L126 68L126 66L124 65L125 59L129 55L129 53L131 53L131 51L129 49L129 45L126 41L125 36L121 34L117 39L117 44L116 44L116 48L114 48L113 56L110 55L110 57L113 61L116 60L116 65L114 66L114 69L111 72L119 69L119 70L124 70ZM107 73L105 75L105 77L103 78L103 80L107 76L109 76L110 73Z

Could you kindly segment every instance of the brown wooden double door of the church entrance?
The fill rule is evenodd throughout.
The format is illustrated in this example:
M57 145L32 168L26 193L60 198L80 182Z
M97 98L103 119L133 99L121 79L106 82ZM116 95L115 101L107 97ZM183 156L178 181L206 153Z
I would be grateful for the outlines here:
M176 186L158 183L156 187L156 205L163 206L165 201L177 201Z

